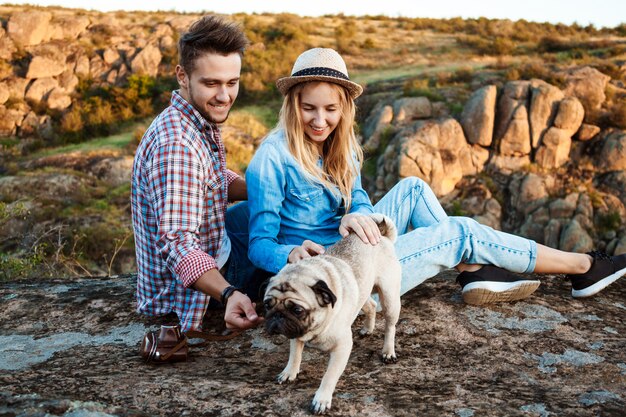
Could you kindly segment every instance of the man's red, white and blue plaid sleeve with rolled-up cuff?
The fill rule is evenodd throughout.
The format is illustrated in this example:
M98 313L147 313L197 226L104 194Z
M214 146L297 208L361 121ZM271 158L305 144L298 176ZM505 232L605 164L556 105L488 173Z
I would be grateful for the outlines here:
M171 142L155 151L148 176L160 254L176 279L189 287L206 271L217 268L215 259L201 249L197 235L210 188L205 184L216 175L193 149Z

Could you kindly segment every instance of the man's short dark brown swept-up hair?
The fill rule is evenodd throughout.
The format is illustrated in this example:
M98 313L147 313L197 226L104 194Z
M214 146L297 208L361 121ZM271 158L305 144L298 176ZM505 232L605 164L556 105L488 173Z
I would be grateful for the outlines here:
M219 16L204 16L195 21L178 41L178 62L187 74L191 74L196 58L201 54L239 52L243 55L248 44L248 38L237 23Z

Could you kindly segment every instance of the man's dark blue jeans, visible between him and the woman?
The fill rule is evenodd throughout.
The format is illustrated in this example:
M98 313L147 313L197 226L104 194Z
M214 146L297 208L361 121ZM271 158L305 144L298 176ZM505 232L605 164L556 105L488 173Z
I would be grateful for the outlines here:
M226 211L226 233L230 238L231 249L224 278L231 285L241 288L252 300L259 298L261 284L272 274L257 268L248 258L248 223L250 211L248 202L243 201Z

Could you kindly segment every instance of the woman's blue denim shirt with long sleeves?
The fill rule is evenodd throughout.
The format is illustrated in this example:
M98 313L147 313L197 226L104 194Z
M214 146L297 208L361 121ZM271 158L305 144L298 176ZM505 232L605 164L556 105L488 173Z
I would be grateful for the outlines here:
M246 170L246 184L248 256L257 268L277 273L304 240L329 246L341 238L339 224L345 209L338 189L311 179L289 152L282 129L270 133L259 146ZM360 176L352 189L350 212L374 212Z

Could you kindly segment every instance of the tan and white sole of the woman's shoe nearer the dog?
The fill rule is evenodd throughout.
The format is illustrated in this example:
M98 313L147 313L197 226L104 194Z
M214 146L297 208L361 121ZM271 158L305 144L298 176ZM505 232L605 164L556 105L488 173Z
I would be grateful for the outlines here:
M540 281L472 282L463 288L463 301L481 306L528 298L541 285Z

